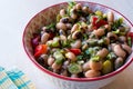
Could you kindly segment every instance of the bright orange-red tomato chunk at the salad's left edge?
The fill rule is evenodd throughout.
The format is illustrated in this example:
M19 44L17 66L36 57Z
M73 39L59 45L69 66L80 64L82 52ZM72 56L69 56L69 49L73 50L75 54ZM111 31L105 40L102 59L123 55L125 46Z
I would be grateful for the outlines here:
M34 49L34 57L39 57L42 53L47 53L47 51L48 51L47 48L48 48L47 44L37 46L35 49Z

